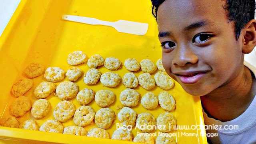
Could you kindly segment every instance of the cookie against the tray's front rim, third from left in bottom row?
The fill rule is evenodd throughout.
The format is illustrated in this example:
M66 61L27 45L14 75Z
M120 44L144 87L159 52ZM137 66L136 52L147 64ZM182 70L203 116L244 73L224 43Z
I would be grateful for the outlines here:
M58 122L57 120L47 120L40 126L39 131L55 132L55 133L62 134L63 129L64 129L64 126L62 125L61 122Z

